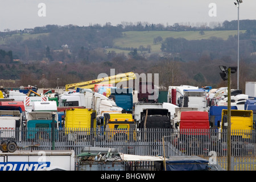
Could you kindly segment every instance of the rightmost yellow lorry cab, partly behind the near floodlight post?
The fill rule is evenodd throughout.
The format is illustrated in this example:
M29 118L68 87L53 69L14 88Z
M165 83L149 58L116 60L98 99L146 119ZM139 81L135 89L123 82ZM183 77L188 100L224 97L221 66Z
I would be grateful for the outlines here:
M221 121L221 130L228 129L228 110L222 110ZM231 110L230 122L233 136L249 138L251 131L255 129L252 110Z

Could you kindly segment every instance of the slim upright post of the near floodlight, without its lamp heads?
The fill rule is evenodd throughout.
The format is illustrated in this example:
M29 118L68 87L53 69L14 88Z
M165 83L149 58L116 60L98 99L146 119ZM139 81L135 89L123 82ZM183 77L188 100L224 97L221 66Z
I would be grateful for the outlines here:
M230 75L231 75L231 69L228 68L228 171L231 171L231 101L230 101L230 95L231 95L231 89L230 89Z

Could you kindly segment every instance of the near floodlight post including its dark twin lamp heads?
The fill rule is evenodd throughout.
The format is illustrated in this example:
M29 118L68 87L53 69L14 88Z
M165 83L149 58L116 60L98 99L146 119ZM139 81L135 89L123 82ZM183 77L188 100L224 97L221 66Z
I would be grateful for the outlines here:
M221 72L220 76L222 80L228 80L228 130L227 130L227 142L228 142L228 171L231 171L231 73L237 72L237 67L229 67L226 69L225 66L219 66Z

